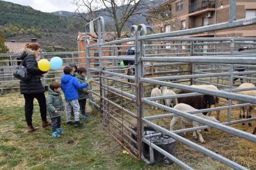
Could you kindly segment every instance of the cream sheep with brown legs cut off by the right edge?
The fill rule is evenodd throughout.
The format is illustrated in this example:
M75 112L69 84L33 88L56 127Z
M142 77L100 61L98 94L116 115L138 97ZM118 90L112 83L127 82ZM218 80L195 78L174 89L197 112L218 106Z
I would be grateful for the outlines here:
M238 88L251 88L251 87L255 87L254 84L252 83L242 83ZM251 96L256 96L256 90L253 91L239 91L236 92L237 94L244 94L244 95L251 95ZM244 102L241 102L239 100L237 100L237 104L241 104ZM240 110L240 118L245 118L245 110L246 110L246 118L252 118L252 111L254 110L255 104L251 104L247 107L242 107L242 115L241 115L241 110ZM242 125L244 125L244 123L242 123ZM248 123L249 126L252 126L252 123Z

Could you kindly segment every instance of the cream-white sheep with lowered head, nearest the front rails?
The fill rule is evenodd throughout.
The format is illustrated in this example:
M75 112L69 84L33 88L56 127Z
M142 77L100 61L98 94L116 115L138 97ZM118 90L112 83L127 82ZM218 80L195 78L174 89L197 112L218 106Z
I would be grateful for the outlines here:
M181 110L181 111L185 111L185 112L198 110L198 109L195 109L194 107L191 107L190 105L187 105L185 103L179 103L174 108L176 110ZM194 115L198 116L200 118L208 119L208 120L216 122L216 123L220 123L220 121L215 119L215 117L213 117L213 116L205 116L202 113L195 113ZM202 123L198 123L197 121L192 121L191 119L185 118L183 116L174 116L173 119L171 120L170 131L173 131L173 127L179 121L179 119L181 119L181 129L185 129L185 123L192 123L193 127L198 127L198 126L203 125ZM205 144L205 140L203 140L201 130L193 131L194 139L197 139L197 134L199 136L200 142L202 144ZM184 135L186 135L186 132L184 132Z

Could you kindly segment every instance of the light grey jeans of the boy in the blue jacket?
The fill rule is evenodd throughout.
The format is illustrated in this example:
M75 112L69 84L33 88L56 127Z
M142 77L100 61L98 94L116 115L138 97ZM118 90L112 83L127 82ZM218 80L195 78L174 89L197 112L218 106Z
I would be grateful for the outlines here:
M71 121L71 110L74 110L74 116L75 116L75 121L79 121L79 102L78 100L70 100L70 101L66 101L66 119L67 122Z

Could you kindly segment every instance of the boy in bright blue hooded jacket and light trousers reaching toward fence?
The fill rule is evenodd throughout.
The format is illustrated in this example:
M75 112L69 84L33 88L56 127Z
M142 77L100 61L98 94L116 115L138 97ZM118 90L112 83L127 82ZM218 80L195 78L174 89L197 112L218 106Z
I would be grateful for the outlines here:
M92 81L88 80L88 83L80 84L79 81L75 77L71 75L72 68L64 67L64 74L61 76L61 89L64 92L64 96L66 99L66 119L67 125L74 125L75 127L83 126L82 123L79 122L79 102L78 102L78 94L77 89L82 89L83 87L88 86L88 83ZM72 123L71 117L71 108L74 109L75 115L75 123Z

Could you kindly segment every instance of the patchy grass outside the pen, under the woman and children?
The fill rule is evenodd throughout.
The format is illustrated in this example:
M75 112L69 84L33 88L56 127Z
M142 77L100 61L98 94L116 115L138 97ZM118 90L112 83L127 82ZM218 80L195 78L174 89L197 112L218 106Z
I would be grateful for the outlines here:
M39 106L34 103L33 125L40 130L28 133L23 95L0 95L0 169L168 169L124 155L103 130L97 110L88 113L81 128L66 126L62 116L64 134L53 139L51 127L41 127Z

